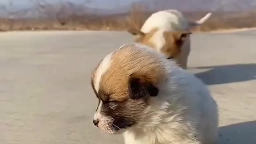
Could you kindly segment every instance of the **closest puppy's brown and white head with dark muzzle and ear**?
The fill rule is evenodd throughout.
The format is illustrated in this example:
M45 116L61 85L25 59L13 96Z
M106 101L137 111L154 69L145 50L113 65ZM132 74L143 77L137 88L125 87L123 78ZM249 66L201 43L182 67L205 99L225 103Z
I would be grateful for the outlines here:
M158 84L167 75L156 54L126 45L98 64L91 81L98 98L93 123L102 132L120 134L147 117L148 100L158 96Z

